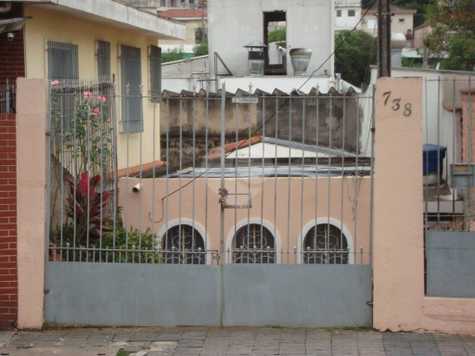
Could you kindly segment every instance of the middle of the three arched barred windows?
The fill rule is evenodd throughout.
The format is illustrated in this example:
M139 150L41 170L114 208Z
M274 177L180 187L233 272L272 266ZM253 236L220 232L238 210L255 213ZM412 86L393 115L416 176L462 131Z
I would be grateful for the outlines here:
M263 225L245 225L234 235L231 254L232 263L275 263L274 236Z

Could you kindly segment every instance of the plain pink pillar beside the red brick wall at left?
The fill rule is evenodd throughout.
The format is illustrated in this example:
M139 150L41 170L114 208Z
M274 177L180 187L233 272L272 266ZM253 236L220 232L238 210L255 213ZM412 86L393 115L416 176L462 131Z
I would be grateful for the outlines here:
M43 325L47 84L17 81L18 327Z

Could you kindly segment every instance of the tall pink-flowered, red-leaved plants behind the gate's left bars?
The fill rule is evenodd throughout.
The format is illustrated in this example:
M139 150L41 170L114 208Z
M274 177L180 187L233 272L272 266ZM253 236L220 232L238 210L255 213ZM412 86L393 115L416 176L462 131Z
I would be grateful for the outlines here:
M110 177L114 130L110 98L113 88L93 88L51 83L51 133L53 172L52 226L56 244L94 245L111 225ZM90 89L91 88L91 89ZM64 181L66 194L60 193ZM115 189L115 188L114 188ZM61 194L61 195L60 195ZM65 213L56 207L64 201ZM63 207L61 208L63 209ZM64 241L63 241L64 239Z

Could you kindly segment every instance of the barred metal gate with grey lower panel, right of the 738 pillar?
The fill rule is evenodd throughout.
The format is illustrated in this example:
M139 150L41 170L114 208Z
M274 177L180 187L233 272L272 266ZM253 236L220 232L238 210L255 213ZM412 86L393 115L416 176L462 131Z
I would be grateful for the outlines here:
M474 81L470 74L424 79L425 291L475 297Z

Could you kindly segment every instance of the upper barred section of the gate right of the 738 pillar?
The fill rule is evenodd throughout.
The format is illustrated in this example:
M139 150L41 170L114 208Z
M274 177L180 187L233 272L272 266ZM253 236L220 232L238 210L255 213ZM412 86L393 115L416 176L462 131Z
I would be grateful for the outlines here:
M468 75L424 79L426 231L470 231L474 84Z

